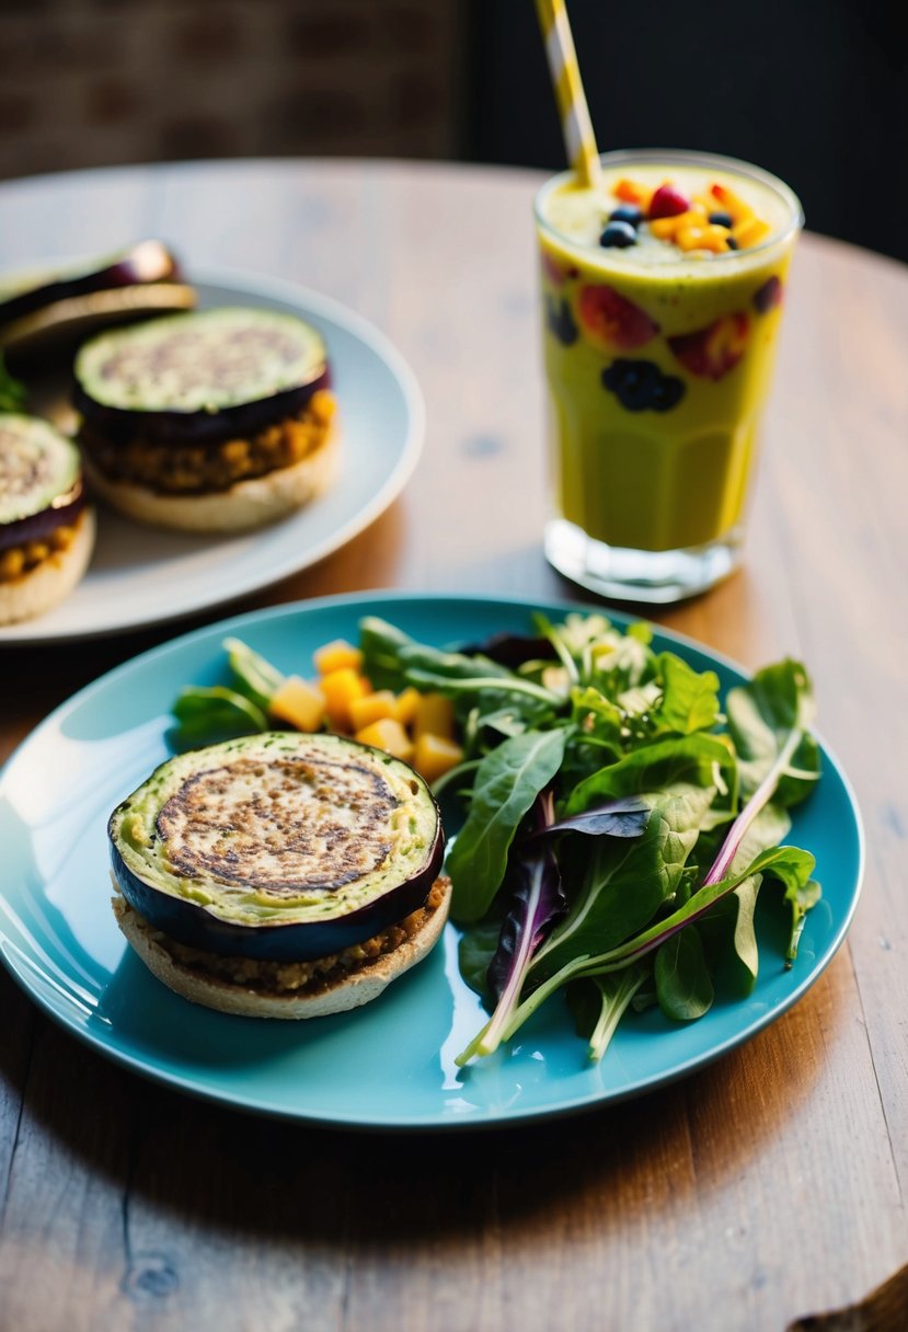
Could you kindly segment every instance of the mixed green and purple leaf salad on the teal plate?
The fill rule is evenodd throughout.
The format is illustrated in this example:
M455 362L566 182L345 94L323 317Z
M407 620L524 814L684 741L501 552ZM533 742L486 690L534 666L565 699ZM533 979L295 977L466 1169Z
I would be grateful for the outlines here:
M628 1008L690 1022L718 983L747 994L764 882L787 903L795 960L820 896L813 856L786 843L788 810L820 775L803 665L767 666L722 699L718 675L656 650L650 625L579 613L458 650L366 617L358 646L374 689L454 706L463 757L434 790L461 971L490 1015L459 1063L511 1040L558 990L591 1059ZM236 639L228 651L229 683L176 701L177 747L274 725L282 674Z

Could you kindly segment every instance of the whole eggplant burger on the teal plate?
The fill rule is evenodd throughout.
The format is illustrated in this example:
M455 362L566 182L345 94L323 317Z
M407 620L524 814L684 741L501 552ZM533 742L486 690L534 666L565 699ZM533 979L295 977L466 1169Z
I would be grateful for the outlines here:
M177 994L317 1018L426 956L450 902L418 774L341 735L265 733L162 763L111 815L120 928Z

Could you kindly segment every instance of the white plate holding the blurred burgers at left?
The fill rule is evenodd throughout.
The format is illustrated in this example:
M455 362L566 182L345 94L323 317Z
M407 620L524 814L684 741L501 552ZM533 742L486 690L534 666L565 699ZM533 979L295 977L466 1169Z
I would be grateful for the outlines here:
M341 476L298 514L241 537L157 531L105 509L79 587L37 619L0 626L0 645L122 633L257 591L350 541L409 480L422 449L425 409L413 372L382 333L338 302L289 282L206 272L193 285L202 308L288 310L322 333L340 402Z

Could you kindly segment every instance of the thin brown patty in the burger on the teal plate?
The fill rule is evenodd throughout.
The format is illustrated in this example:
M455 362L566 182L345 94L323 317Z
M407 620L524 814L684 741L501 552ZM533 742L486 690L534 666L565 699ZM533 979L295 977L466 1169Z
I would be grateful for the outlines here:
M414 934L418 934L442 904L443 898L445 883L435 880L425 904L410 912L403 920L398 920L397 924L389 926L381 934L373 935L365 943L355 943L341 952L333 952L326 958L316 958L310 962L262 962L256 958L226 958L217 952L180 943L161 930L152 928L137 912L132 914L140 928L148 931L154 943L164 948L176 963L200 975L222 980L226 984L244 986L261 994L316 995L330 990L354 971L361 971L378 958L399 948ZM132 907L125 907L125 910L132 911Z

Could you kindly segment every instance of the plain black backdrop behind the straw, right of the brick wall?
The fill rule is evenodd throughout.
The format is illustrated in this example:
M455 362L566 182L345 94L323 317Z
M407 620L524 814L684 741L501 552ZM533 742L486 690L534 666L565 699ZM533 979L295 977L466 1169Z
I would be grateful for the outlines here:
M529 0L474 0L466 156L561 169ZM600 149L699 148L758 163L807 225L908 260L905 0L570 0Z

